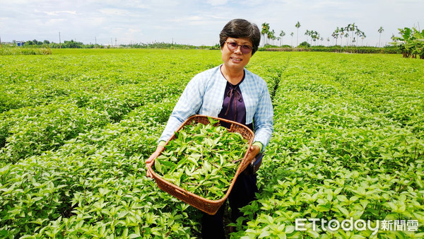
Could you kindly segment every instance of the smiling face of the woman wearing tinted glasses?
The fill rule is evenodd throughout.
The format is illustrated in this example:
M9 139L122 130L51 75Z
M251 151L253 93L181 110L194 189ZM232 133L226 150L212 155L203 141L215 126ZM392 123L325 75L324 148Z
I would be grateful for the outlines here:
M252 42L250 42L249 38L228 37L223 47L221 47L221 57L223 58L225 68L243 70L247 63L249 63L250 57L252 57L252 51L244 54L242 53L241 46L237 46L237 48L232 51L229 49L227 42L235 42L237 45L249 45L250 47L252 47Z

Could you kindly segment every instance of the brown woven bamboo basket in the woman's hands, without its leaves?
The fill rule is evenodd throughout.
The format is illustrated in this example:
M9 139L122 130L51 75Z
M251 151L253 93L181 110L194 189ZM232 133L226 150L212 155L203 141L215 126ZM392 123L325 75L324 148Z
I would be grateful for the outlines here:
M204 197L200 197L199 195L196 195L192 192L184 190L181 187L178 187L177 185L172 184L171 182L167 182L162 177L160 177L160 175L156 174L155 171L153 170L152 167L154 165L154 160L151 165L147 166L147 170L153 175L153 178L155 179L156 184L161 190L171 194L173 197L176 197L182 202L185 202L189 205L194 206L196 209L206 212L206 214L214 215L216 214L220 206L222 206L222 204L225 202L225 199L227 199L228 195L230 194L232 190L232 187L234 186L235 180L237 180L238 175L240 175L240 173L242 173L242 171L245 170L250 163L247 158L247 155L249 154L249 148L252 146L254 133L252 132L251 129L249 129L245 125L240 124L238 122L234 122L228 119L222 119L218 117L211 117L211 118L218 119L220 122L227 122L228 124L230 124L228 131L238 132L242 134L243 138L247 139L247 141L249 142L249 147L245 153L245 157L242 159L242 161L240 161L240 164L237 167L237 171L235 172L235 176L231 180L230 187L228 188L223 198L218 200L205 199ZM192 117L189 117L179 127L179 129L177 129L177 132L179 132L179 130L182 129L182 127L184 127L185 125L192 124L193 122L201 123L201 124L209 124L209 119L206 115L193 115ZM166 144L168 144L174 138L175 138L175 134L172 135L172 137L170 138L169 141L167 141Z

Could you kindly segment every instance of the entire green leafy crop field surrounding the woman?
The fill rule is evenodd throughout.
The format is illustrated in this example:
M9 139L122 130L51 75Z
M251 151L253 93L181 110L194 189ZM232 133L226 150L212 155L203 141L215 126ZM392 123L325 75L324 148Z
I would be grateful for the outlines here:
M220 52L52 51L0 57L0 237L199 237L199 211L144 161ZM268 83L274 132L230 236L424 237L424 61L257 52L247 69Z

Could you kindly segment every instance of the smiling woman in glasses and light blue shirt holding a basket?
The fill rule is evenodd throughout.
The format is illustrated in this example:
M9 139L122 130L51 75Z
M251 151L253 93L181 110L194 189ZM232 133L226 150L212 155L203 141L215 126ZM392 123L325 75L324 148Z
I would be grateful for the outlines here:
M208 115L230 119L254 130L254 143L249 158L255 158L268 144L273 131L273 109L265 81L245 69L250 57L257 51L261 35L257 25L244 19L228 22L220 33L220 51L223 64L197 74L187 84L160 136L158 148L146 164L152 163L162 151L165 142L192 115ZM152 177L148 173L148 177ZM232 221L240 214L240 207L255 199L256 174L247 168L239 177L228 197ZM211 216L202 218L204 238L225 238L224 206Z

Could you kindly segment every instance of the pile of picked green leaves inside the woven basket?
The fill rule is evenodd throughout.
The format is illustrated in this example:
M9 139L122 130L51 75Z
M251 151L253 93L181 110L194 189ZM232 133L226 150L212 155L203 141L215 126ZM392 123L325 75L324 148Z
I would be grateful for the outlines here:
M189 124L175 134L155 159L155 170L168 182L206 199L218 200L230 187L247 140L221 126Z

